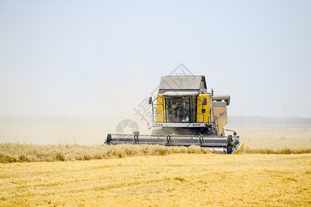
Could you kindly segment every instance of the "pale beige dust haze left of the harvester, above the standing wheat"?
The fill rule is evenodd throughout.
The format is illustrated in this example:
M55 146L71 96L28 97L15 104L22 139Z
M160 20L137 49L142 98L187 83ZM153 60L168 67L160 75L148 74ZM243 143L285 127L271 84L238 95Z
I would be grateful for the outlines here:
M115 133L121 121L120 117L2 116L0 117L0 143L104 144L106 135ZM139 119L137 122L140 123ZM139 125L142 126L141 132L148 132L146 124Z

